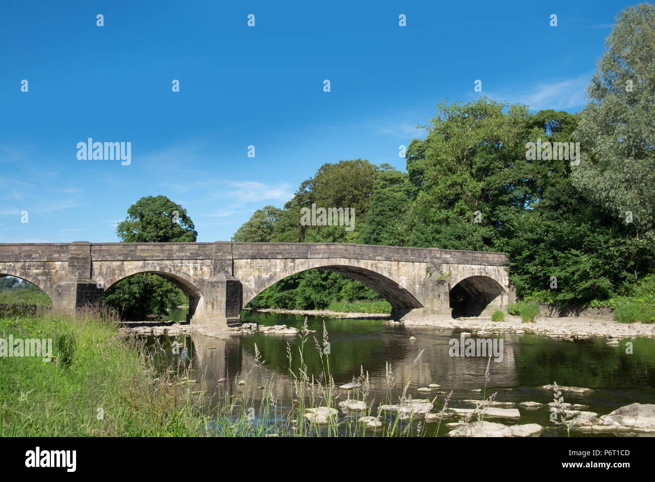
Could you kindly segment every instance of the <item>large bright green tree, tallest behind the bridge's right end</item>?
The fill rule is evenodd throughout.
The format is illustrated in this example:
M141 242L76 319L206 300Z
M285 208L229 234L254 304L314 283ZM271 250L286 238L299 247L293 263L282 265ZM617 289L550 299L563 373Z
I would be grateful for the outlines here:
M526 143L557 140L574 121L488 98L442 102L425 139L407 149L412 185L407 243L442 249L495 249L504 223L567 176L566 161L527 159Z

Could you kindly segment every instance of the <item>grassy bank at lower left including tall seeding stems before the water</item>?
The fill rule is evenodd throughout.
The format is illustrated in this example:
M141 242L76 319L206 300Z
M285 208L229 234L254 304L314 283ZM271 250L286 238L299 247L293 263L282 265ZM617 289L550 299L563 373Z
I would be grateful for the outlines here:
M375 407L367 399L369 382L363 369L356 380L360 388L350 397L362 401L366 408L345 418L327 414L327 419L320 422L325 407L334 409L336 395L343 393L330 375L329 355L322 353L322 345L311 333L305 324L297 345L288 348L290 370L286 382L294 387L288 407L288 402L283 406L278 399L280 378L271 377L265 386L255 387L251 371L238 374L236 379L225 379L214 393L208 393L198 390L208 388L198 372L179 372L169 367L164 374L155 373L153 367L164 357L156 359L149 353L164 348L145 350L135 338L119 336L117 319L103 313L71 316L50 311L37 317L3 317L0 338L50 338L52 360L0 356L0 436L395 437L438 433L440 423L423 423L418 433L413 430L418 421L414 414L400 417L396 411L385 409L371 416ZM325 330L322 338L327 342ZM304 361L307 350L314 349L321 354L320 374L309 374ZM255 351L254 369L263 363L260 357ZM298 369L291 369L292 358L299 360ZM417 362L418 358L412 369ZM411 371L406 380L398 380L404 402L409 402L410 378ZM392 393L394 386L388 366L387 404L398 403L398 393ZM435 401L436 397L432 403ZM362 419L364 416L369 419ZM377 420L379 427L368 427L371 419Z

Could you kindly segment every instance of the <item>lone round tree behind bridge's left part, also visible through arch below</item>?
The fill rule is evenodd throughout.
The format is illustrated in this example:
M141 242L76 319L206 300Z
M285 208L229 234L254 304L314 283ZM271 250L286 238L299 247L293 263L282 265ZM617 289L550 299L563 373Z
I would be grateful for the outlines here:
M124 243L189 243L198 236L187 210L166 196L141 197L127 212L128 217L116 229ZM165 315L171 308L188 302L174 283L149 273L121 279L109 287L102 300L124 319L131 320Z

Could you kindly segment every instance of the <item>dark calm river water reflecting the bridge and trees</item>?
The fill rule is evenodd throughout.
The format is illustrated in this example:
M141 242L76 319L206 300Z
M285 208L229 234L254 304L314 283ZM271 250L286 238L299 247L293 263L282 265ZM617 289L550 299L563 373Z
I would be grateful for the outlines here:
M185 319L184 311L171 313L171 319ZM287 325L301 329L305 317L278 313L256 313L242 311L244 322L255 321L260 325ZM322 319L309 317L308 326L322 346L323 323L329 338L329 371L337 386L352 382L360 372L368 374L370 391L368 395L372 406L386 403L386 367L390 364L395 386L392 402L398 403L403 386L409 380L407 394L413 399L434 399L434 412L439 412L443 399L451 390L453 397L449 407L473 408L463 400L482 399L481 390L485 386L487 357L453 357L450 341L460 339L461 330L437 329L434 327L405 327L385 324L384 320L370 319ZM411 340L411 337L416 338ZM527 410L521 407L518 420L491 419L506 425L536 423L544 426L542 436L567 436L565 429L556 427L550 420L546 403L553 401L553 393L539 390L538 387L557 382L559 386L591 388L587 395L564 393L564 401L578 403L589 408L586 411L600 415L628 405L629 403L655 403L655 340L636 338L621 340L618 346L607 344L605 338L587 340L561 340L531 334L489 334L489 338L503 341L502 361L489 363L489 382L487 397L497 392L495 401L514 402L536 401L544 403L540 409ZM474 335L473 338L476 338ZM149 344L162 344L168 353L162 359L160 368L170 363L184 363L199 379L194 390L212 391L219 380L226 378L223 386L231 393L238 394L246 389L236 382L249 376L250 388L255 393L253 406L257 404L258 386L275 380L278 405L284 409L291 403L293 395L287 355L291 347L291 369L297 373L299 367L299 337L293 335L241 334L229 340L217 340L206 336L160 336L149 337ZM172 353L174 342L185 344L184 361ZM632 342L632 353L626 353L626 342ZM255 344L263 360L258 365L255 360ZM189 349L190 348L190 349ZM422 356L411 366L422 351ZM304 348L308 373L318 378L323 371L318 350L312 336ZM196 378L196 375L193 376ZM419 388L429 384L441 387L429 393L419 392ZM339 401L352 396L352 391L339 390ZM373 411L375 414L375 410ZM458 419L445 419L455 422ZM448 430L440 429L440 435ZM571 435L580 433L571 432Z

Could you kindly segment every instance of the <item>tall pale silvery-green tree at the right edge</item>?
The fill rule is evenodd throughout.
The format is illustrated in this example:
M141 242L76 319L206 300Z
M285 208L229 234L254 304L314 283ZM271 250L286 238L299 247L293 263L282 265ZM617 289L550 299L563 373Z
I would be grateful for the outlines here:
M578 188L639 232L655 236L655 5L616 17L587 89L576 132L588 151L572 178ZM632 216L629 215L632 213Z

